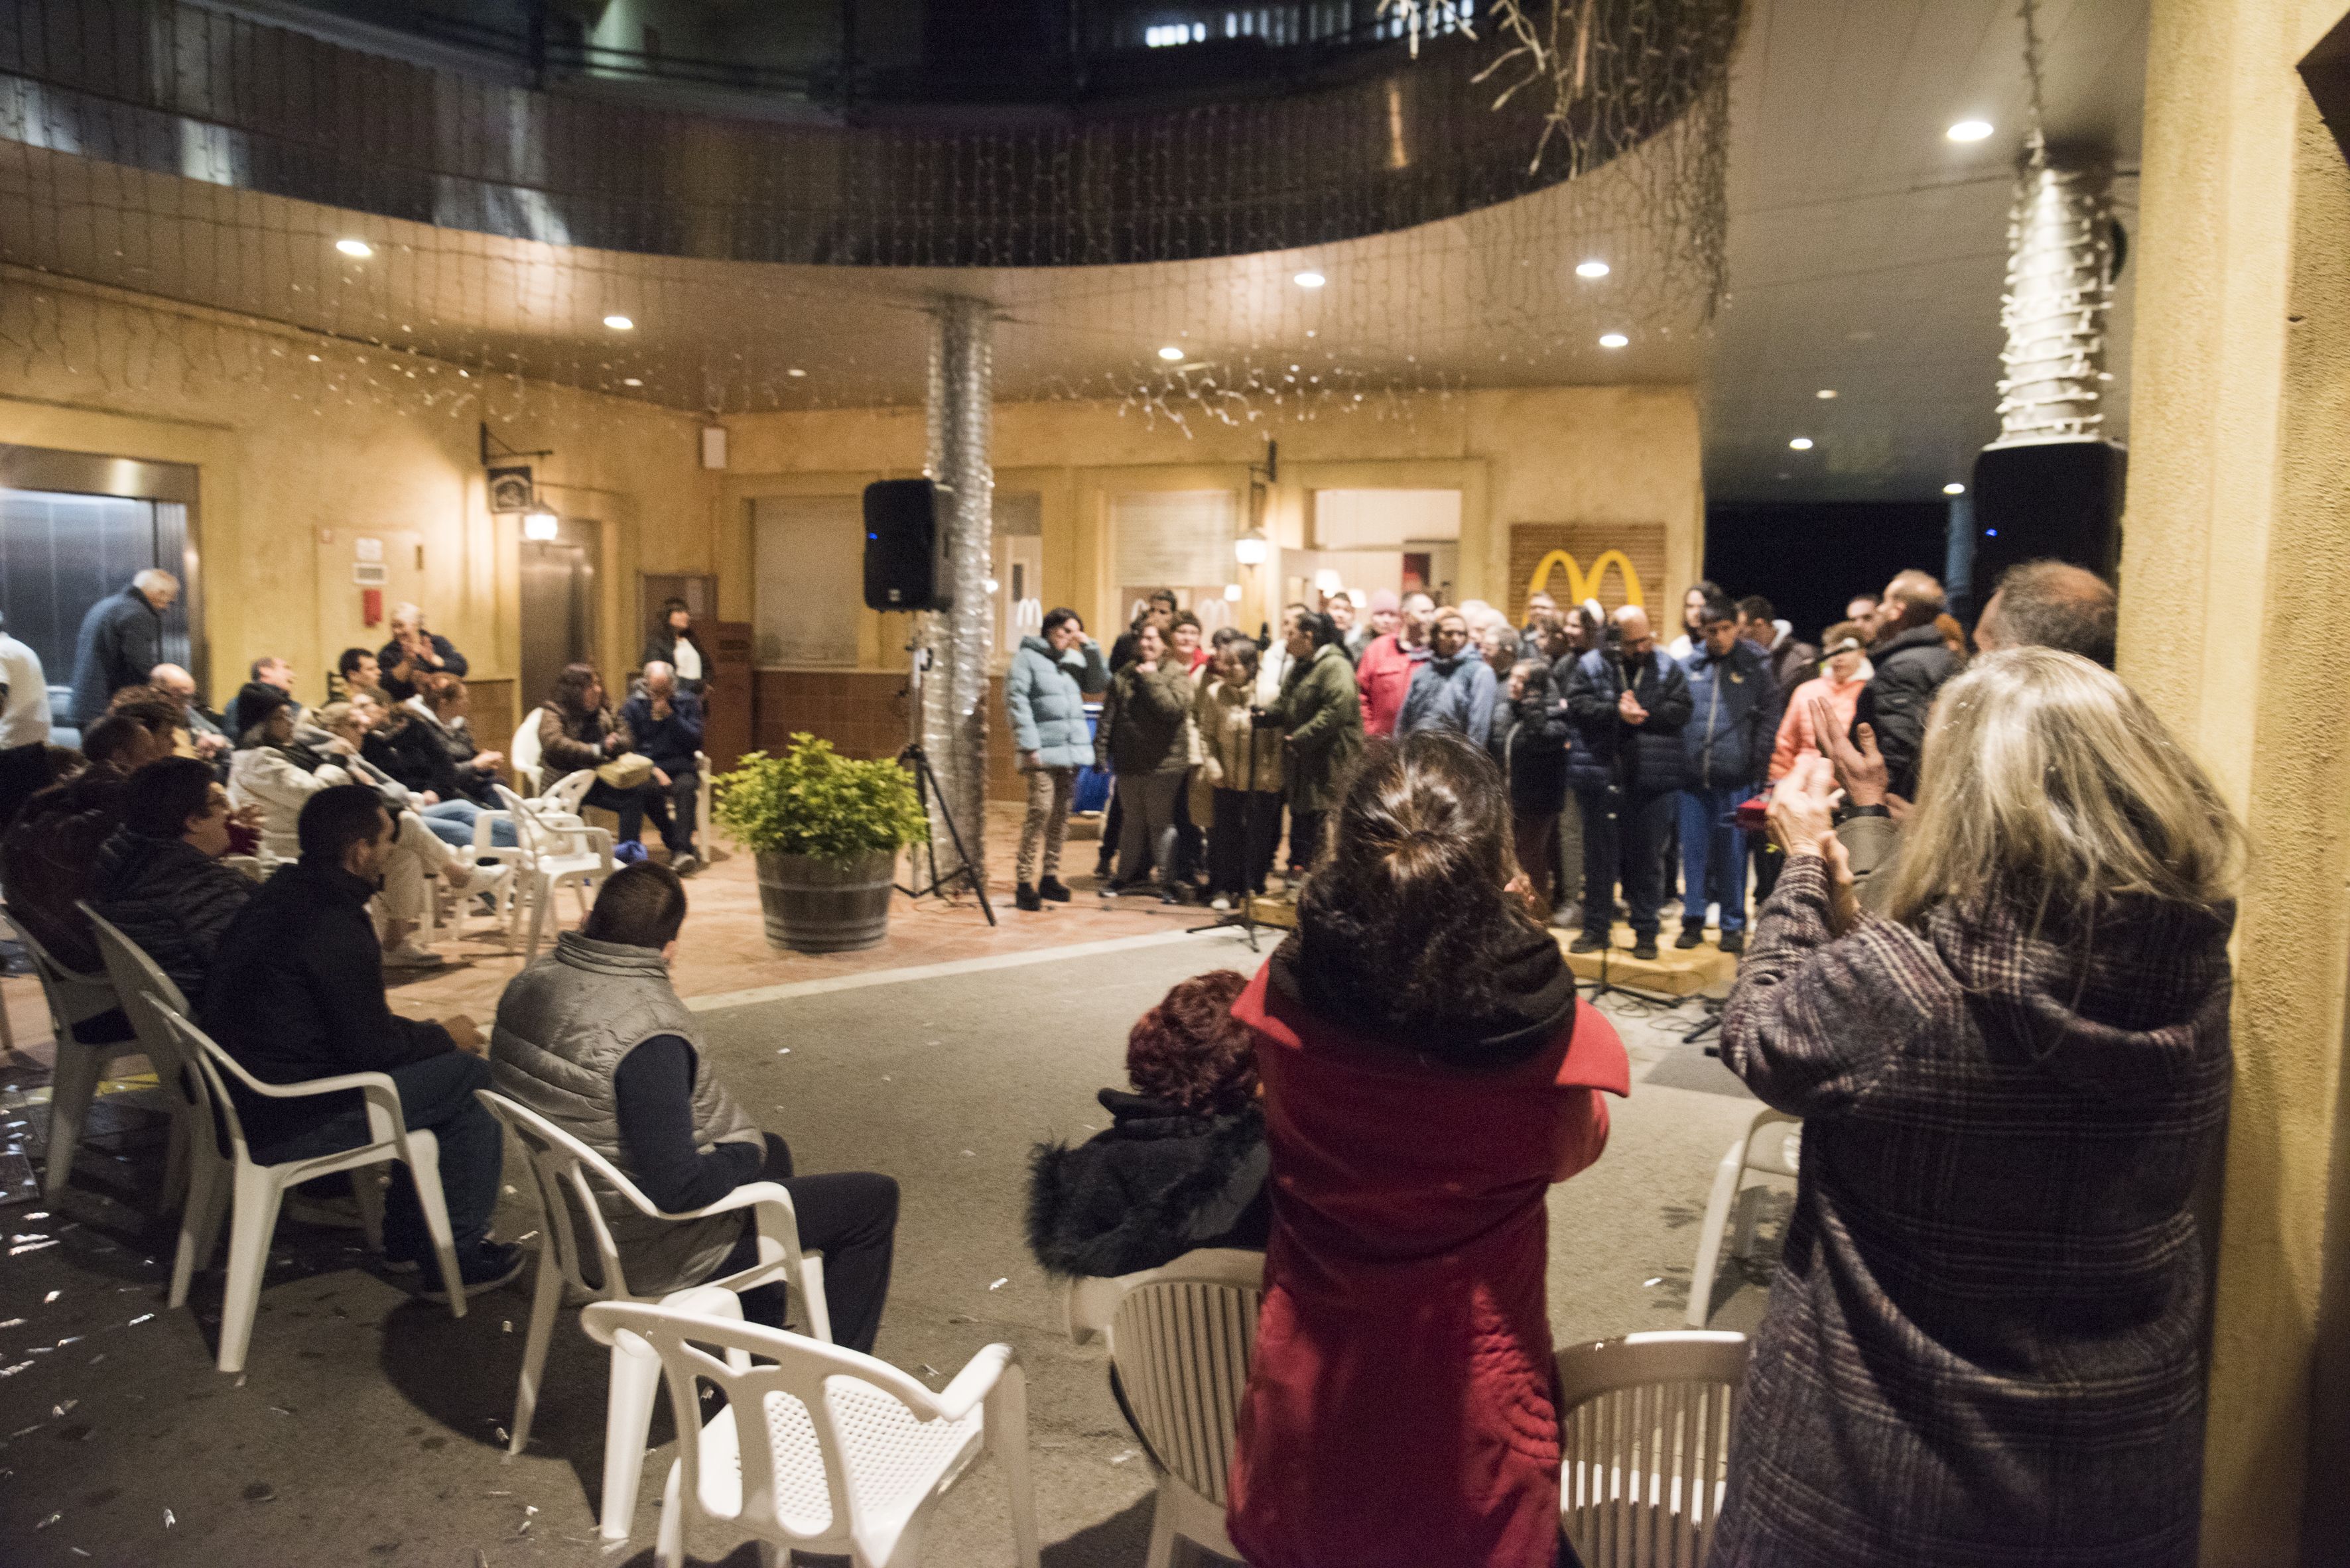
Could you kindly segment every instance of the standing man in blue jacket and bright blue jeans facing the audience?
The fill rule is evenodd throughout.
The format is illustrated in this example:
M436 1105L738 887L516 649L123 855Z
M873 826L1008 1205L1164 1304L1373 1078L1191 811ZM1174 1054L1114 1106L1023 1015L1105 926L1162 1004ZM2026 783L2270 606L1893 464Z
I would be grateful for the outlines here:
M1680 786L1680 937L1676 948L1706 939L1706 904L1723 906L1723 953L1746 951L1746 833L1734 826L1739 803L1770 772L1779 737L1779 681L1770 655L1739 636L1739 613L1727 599L1706 599L1697 648L1680 660L1690 683L1690 723L1680 732L1687 756Z

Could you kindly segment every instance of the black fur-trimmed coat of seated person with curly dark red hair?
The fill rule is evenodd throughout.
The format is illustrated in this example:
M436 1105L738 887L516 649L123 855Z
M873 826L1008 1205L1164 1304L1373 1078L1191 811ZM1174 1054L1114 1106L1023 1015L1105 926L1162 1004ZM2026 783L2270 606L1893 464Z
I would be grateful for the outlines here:
M1029 1162L1029 1251L1050 1275L1133 1275L1196 1246L1264 1249L1264 1113L1191 1115L1102 1089L1109 1131Z

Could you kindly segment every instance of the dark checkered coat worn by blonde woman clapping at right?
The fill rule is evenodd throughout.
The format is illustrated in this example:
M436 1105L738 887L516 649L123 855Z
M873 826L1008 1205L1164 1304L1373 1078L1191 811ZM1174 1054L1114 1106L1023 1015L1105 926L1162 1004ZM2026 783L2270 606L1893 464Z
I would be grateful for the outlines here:
M1711 1568L2190 1568L2232 911L1828 937L1798 857L1723 1061L1805 1117Z

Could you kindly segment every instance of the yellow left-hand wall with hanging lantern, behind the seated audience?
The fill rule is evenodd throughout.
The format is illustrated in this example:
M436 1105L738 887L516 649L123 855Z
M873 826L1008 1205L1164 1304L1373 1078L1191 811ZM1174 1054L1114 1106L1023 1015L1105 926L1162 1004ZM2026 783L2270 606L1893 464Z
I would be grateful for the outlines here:
M0 441L200 469L216 702L263 653L294 660L298 690L317 697L345 646L388 638L360 617L355 535L418 535L430 624L477 676L517 674L519 526L489 514L482 418L510 446L555 448L531 460L540 498L602 523L606 669L634 664L644 646L639 570L710 570L714 477L700 469L693 415L475 380L456 366L16 270L0 275ZM334 542L322 542L327 533ZM397 566L395 582L414 556Z

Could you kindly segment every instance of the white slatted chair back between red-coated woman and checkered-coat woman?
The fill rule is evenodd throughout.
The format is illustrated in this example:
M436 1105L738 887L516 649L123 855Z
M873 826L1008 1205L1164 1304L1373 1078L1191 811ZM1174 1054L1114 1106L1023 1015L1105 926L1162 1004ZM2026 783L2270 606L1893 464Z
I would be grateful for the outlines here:
M1748 1352L1701 1329L1558 1352L1558 1521L1584 1568L1704 1568Z

